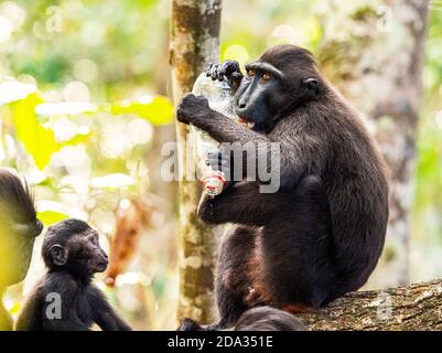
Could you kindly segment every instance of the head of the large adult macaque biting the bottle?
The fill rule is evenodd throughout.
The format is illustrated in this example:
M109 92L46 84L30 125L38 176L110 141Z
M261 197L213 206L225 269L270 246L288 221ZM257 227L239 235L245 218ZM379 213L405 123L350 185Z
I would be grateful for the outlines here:
M321 92L313 57L290 46L268 50L246 69L235 110L238 121L255 131L269 132L288 111L316 99Z

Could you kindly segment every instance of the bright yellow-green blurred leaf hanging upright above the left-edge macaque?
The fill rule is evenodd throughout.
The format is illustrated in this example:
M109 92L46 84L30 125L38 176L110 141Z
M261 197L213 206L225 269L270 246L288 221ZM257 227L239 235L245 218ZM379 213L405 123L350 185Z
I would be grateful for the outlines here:
M42 101L36 94L31 94L12 104L17 137L33 157L39 169L46 167L52 153L60 149L54 132L42 126L36 118L35 106Z

